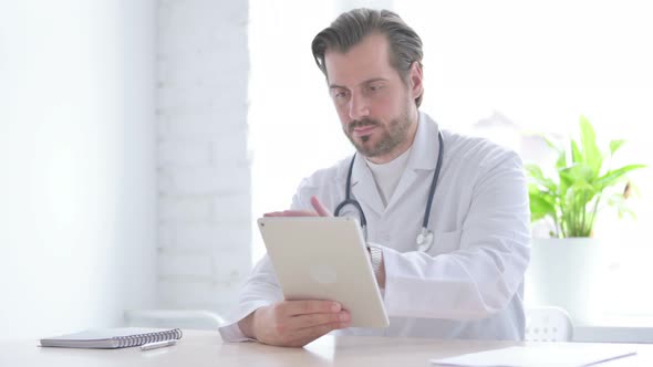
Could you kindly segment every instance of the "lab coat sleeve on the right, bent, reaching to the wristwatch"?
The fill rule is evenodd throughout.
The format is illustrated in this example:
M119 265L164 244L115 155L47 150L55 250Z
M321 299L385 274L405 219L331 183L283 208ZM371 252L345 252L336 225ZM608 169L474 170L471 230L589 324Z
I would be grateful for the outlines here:
M508 306L530 256L530 213L521 160L514 153L500 158L480 166L469 184L455 250L433 256L382 247L388 315L478 319Z

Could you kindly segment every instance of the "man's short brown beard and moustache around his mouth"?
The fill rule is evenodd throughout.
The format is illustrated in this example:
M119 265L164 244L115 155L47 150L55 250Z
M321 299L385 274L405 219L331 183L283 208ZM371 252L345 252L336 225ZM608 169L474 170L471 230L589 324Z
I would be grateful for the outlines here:
M382 134L375 145L370 146L366 144L371 137L369 135L360 137L360 141L353 136L354 128L362 126L379 126L384 128L383 132L374 132L374 134ZM374 158L392 153L398 145L404 143L408 136L408 126L411 126L408 115L407 113L403 113L392 119L385 127L380 122L371 118L354 120L349 124L344 134L360 154L369 158Z

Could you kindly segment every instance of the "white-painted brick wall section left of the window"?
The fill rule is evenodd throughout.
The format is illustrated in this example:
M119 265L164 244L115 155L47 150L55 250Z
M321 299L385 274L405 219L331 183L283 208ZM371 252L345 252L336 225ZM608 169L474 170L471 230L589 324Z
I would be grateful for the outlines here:
M232 307L251 262L247 1L159 0L159 307Z

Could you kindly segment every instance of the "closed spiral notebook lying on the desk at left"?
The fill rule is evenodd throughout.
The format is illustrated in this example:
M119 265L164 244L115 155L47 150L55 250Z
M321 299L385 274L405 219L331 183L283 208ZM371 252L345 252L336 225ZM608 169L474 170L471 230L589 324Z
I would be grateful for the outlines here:
M180 338L182 331L178 328L153 329L127 327L87 329L80 333L43 338L40 342L42 347L114 349Z

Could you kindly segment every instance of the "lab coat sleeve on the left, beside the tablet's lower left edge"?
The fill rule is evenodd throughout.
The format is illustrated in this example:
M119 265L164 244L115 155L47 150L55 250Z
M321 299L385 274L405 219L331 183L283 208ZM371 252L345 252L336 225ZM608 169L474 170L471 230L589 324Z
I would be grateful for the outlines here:
M251 275L242 287L238 301L238 307L230 322L219 327L220 335L225 342L252 340L245 336L238 326L238 322L247 317L257 308L270 305L283 300L281 286L274 275L270 258L266 255L252 270Z

